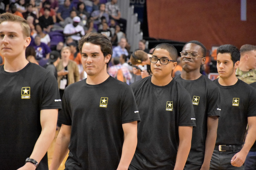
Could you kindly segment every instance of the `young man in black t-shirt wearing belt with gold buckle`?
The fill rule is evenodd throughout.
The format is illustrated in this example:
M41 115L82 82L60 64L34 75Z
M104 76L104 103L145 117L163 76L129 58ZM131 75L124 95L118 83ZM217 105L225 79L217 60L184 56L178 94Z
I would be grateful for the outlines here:
M244 169L243 163L256 139L256 90L236 77L240 52L233 45L217 49L221 116L210 169ZM248 132L244 134L248 123Z

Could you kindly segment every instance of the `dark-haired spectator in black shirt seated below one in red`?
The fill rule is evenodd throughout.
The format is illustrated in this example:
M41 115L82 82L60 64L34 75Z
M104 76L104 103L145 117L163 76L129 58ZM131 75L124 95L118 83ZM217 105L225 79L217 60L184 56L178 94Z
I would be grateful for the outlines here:
M50 8L44 9L44 15L38 18L39 24L43 28L44 31L50 32L53 28L54 21L50 16Z

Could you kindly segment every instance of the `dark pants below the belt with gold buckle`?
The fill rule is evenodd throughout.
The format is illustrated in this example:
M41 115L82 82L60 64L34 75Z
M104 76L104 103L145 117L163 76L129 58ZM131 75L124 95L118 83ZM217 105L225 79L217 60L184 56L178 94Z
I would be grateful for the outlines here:
M211 157L212 162L210 163L210 170L244 170L244 165L241 167L231 165L232 157L239 151L240 150L221 152L215 149Z

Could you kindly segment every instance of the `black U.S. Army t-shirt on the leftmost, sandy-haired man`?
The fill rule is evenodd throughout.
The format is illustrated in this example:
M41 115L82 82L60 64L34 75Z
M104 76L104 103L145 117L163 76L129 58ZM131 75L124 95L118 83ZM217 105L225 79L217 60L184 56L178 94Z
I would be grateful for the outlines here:
M0 66L0 96L0 169L18 169L41 134L40 111L61 108L58 84L34 63L14 73ZM37 169L48 169L47 153Z

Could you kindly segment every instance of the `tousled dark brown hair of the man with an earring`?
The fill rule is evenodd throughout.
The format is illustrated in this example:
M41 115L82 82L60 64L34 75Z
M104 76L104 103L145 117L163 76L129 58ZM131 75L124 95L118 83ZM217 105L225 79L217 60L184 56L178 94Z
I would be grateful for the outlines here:
M82 52L82 47L84 43L92 43L95 45L99 45L104 57L110 54L112 58L112 53L113 53L112 44L105 35L102 35L100 33L90 32L85 36L83 36L78 42L78 48L80 52ZM111 58L109 61L111 61ZM107 63L107 67L108 67L108 64L109 63Z

